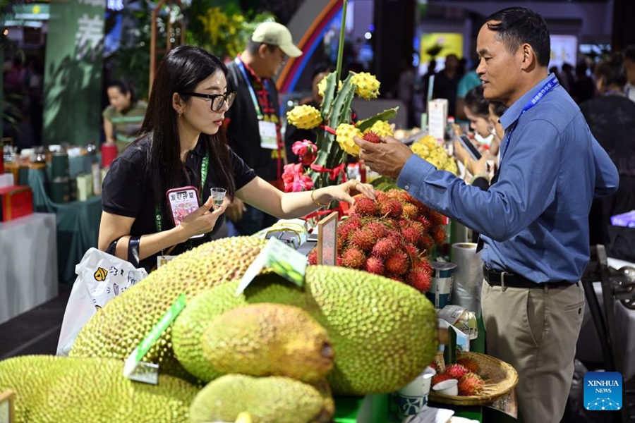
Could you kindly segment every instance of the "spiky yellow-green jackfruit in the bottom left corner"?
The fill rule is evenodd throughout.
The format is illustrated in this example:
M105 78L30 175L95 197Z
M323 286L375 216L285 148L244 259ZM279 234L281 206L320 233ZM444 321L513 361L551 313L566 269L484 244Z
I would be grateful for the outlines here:
M0 362L0 392L16 393L16 423L188 422L199 389L173 376L158 385L123 377L123 362L27 355Z

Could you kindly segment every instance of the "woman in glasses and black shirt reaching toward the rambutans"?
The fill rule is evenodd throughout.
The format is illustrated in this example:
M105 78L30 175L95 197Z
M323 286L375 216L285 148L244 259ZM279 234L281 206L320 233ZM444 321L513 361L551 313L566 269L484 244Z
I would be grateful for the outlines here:
M100 250L151 271L214 239L234 197L284 219L334 200L353 202L360 192L374 198L373 187L356 180L285 193L256 176L219 131L235 97L226 91L226 75L224 63L199 47L176 47L165 56L140 135L104 178ZM200 207L175 226L167 194L187 186L198 189ZM226 190L222 205L212 204L211 188Z

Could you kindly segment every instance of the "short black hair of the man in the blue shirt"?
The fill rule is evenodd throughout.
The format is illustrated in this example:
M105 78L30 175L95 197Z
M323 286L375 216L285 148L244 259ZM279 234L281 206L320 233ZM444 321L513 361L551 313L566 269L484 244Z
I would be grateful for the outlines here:
M498 23L490 23L495 20ZM524 7L509 7L492 13L485 18L488 28L497 32L508 51L516 51L521 44L527 43L536 52L538 64L545 68L549 65L551 40L545 18Z

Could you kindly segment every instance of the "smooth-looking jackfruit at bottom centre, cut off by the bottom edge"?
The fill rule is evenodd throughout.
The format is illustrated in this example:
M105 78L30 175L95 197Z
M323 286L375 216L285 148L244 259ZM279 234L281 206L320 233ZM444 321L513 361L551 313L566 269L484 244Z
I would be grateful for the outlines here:
M249 412L253 423L329 422L316 388L286 377L227 374L207 384L190 407L192 423L234 422Z

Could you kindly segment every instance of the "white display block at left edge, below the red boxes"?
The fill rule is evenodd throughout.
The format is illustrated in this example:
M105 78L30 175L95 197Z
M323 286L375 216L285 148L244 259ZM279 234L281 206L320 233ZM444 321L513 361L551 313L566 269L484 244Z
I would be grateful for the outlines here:
M0 223L0 324L57 297L55 214Z

